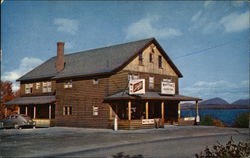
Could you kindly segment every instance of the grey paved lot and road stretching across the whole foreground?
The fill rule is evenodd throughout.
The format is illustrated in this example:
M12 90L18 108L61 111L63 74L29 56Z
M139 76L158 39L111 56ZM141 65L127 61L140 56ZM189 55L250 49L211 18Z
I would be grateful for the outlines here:
M86 128L0 130L0 157L187 157L217 140L248 140L248 129L166 126L164 129L113 131Z

